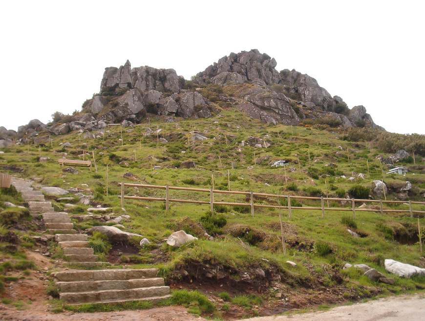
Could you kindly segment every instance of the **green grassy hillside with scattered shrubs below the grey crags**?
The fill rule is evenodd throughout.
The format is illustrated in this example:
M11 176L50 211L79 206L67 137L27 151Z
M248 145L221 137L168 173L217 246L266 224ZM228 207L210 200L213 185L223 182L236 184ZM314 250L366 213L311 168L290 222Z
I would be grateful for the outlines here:
M155 132L146 135L148 128L161 130L158 135ZM411 159L400 163L411 170L406 176L385 175L387 168L376 156L386 157L387 154L378 150L376 144L369 146L368 142L346 140L346 133L335 128L319 128L323 129L267 126L235 110L223 110L210 119L175 123L166 123L158 117L134 128L124 128L122 132L120 127L106 128L104 135L95 133L97 138L71 133L52 136L52 144L40 149L16 146L4 150L0 155L0 170L38 178L45 186L78 188L86 195L94 195L93 204L77 204L71 210L74 215L85 215L88 207L97 204L112 207L114 214L130 215L131 219L122 223L126 231L147 237L151 244L140 249L131 244L110 245L103 238L95 237L92 243L101 245L98 248L103 258L115 267L161 268L162 275L173 288L198 289L206 293L214 301L218 317L280 313L292 308L424 289L425 278L395 277L395 284L388 285L372 282L352 268L342 270L347 262L364 263L394 278L383 268L385 258L424 267L417 218L412 219L409 214L381 217L379 213L358 212L353 220L350 212L329 211L321 218L320 211L295 210L290 220L286 210L255 209L252 217L249 208L241 207L217 206L213 214L208 213L209 205L172 203L168 213L162 202L126 200L125 213L120 207L121 181L210 188L213 174L215 188L227 190L227 170L230 171L231 189L237 191L311 196L328 193L345 197L353 187L361 185L370 189L372 180L383 177L389 189L387 199L395 199L408 180L413 185L410 198L424 200L425 164L419 155L416 155L416 164L412 164ZM199 131L208 139L194 140L193 131ZM159 138L165 138L168 143ZM263 144L263 148L241 146L241 141L255 141ZM71 147L62 147L65 142ZM83 159L83 150L89 151L85 159L90 160L94 150L98 172L94 168L92 171L77 168L78 174L61 170L58 158L66 153L67 158ZM50 159L40 162L40 156ZM270 167L271 161L280 159L290 162L286 179L283 168ZM182 168L185 161L194 161L196 167ZM108 195L106 165L109 169ZM153 170L153 166L160 166L160 169ZM365 178L359 178L358 173L365 174ZM346 178L340 178L341 175ZM130 176L132 179L128 178ZM348 180L350 176L355 179ZM357 197L353 191L351 196ZM127 188L126 193L165 195L164 191L153 189ZM208 193L200 196L186 191L171 191L170 197L209 200ZM216 195L215 200L246 202L244 196L225 194ZM20 202L18 198L5 195L0 201ZM271 199L255 201L273 204ZM316 201L298 202L292 205L319 206ZM350 205L330 203L331 207L349 208ZM55 201L55 206L60 210L64 203ZM408 209L405 204L393 207ZM414 205L414 209L424 211L425 207ZM280 240L279 214L283 218L286 255ZM95 219L74 222L81 231L103 224ZM424 216L420 217L420 223L425 226ZM20 229L17 233L22 235L40 235L37 227L17 228ZM347 228L363 237L352 237ZM180 229L199 240L177 250L166 246L164 239ZM214 239L206 239L205 232ZM55 253L55 249L51 248L51 252ZM14 260L5 251L1 253L2 264ZM292 267L287 260L296 262L297 266ZM264 270L265 278L258 274L258 268Z

